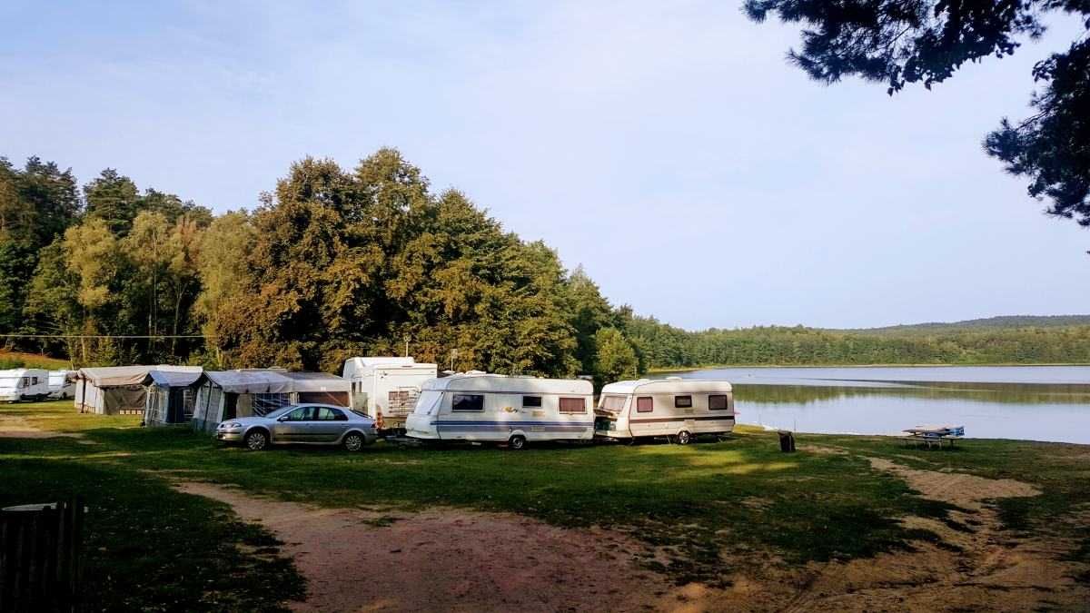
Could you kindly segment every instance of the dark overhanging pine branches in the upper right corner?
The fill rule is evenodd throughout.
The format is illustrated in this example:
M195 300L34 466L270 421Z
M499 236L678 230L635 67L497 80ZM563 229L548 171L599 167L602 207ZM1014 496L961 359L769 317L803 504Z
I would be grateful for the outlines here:
M801 23L801 50L790 60L811 77L835 83L858 75L885 83L892 95L908 84L927 88L949 79L966 62L1014 53L1022 38L1045 31L1044 15L1079 15L1090 28L1086 0L746 0L755 21L778 14ZM1030 180L1029 194L1049 197L1047 213L1090 226L1090 38L1033 67L1034 115L1004 118L984 151L1012 175Z

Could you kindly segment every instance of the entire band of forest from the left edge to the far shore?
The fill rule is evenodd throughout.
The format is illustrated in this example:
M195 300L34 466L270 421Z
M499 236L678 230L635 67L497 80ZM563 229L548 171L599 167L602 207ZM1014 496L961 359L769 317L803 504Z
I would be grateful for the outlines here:
M683 330L611 304L390 148L352 169L302 159L255 211L219 215L114 169L80 185L0 157L0 347L76 366L338 372L405 344L444 369L600 384L710 364L1090 363L1090 318L1001 320Z

